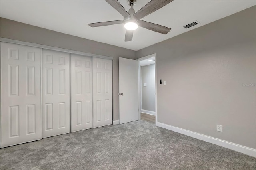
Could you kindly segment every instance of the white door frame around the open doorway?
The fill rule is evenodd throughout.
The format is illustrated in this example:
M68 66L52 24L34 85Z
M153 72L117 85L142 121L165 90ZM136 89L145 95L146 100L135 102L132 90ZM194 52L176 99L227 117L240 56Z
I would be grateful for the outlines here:
M138 61L142 61L142 60L145 60L145 59L149 59L149 58L151 58L151 57L155 57L155 91L156 91L156 95L155 95L155 107L156 107L156 122L157 122L157 74L156 74L156 53L154 53L154 54L151 54L151 55L147 55L147 56L145 56L145 57L141 57L141 58L138 58L138 59L136 59L136 60L138 60ZM139 70L138 70L138 74L139 74L139 79L138 79L138 82L139 82L139 84L138 84L138 86L139 86L139 91L138 91L138 93L139 93L139 110L141 111L141 103L142 103L142 97L141 97L141 88L142 88L142 86L141 86L141 69L140 69L140 63L139 63ZM140 111L139 111L139 120L140 120ZM156 122L155 122L155 124L156 124Z

